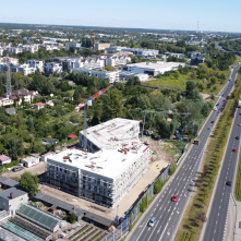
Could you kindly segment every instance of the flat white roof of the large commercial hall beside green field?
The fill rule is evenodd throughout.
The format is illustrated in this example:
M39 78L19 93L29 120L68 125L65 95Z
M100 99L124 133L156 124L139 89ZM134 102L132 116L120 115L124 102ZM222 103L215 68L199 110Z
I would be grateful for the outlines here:
M141 69L152 69L152 70L161 70L166 68L174 68L179 65L185 65L185 63L180 63L180 62L142 62L142 63L132 63L128 64L128 67L136 67Z

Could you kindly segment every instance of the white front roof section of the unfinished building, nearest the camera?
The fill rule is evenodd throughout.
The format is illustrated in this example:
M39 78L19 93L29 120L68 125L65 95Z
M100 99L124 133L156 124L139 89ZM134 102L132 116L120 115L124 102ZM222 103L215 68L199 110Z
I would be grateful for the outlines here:
M121 153L122 149L129 148L126 154ZM50 158L49 160L69 165L88 172L117 180L128 170L143 153L148 148L141 141L123 142L116 149L103 149L95 154L85 153L80 149L67 149ZM67 159L70 158L70 159Z

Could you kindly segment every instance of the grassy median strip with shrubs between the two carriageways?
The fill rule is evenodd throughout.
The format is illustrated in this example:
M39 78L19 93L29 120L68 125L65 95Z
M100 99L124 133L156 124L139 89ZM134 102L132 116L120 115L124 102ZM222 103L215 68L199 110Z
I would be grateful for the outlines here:
M200 240L215 181L217 179L219 166L233 121L231 113L233 111L234 103L240 98L240 75L238 76L238 80L239 81L236 84L222 113L220 115L216 128L208 140L206 148L207 153L204 154L201 172L194 188L194 193L186 207L174 241Z

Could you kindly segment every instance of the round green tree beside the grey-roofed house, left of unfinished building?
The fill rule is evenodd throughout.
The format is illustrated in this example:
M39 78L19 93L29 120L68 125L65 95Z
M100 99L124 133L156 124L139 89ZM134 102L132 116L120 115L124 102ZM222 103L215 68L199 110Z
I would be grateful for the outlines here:
M24 172L20 179L20 186L26 191L31 196L34 196L35 193L39 192L38 190L38 176L32 174L31 172Z

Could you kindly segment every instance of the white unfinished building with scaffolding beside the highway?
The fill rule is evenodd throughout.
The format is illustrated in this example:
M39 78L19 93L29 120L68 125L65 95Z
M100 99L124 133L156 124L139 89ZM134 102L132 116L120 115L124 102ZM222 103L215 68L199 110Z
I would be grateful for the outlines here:
M47 159L47 181L64 192L115 206L145 172L149 147L138 140L138 121L117 118L86 133L88 152L72 148Z

